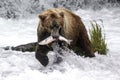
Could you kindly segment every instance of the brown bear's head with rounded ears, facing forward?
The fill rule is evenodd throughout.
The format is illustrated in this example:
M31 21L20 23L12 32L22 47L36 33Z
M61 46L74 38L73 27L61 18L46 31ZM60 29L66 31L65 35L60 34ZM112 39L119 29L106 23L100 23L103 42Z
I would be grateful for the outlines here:
M46 12L39 15L41 27L47 30L50 35L58 39L62 35L64 26L64 13Z

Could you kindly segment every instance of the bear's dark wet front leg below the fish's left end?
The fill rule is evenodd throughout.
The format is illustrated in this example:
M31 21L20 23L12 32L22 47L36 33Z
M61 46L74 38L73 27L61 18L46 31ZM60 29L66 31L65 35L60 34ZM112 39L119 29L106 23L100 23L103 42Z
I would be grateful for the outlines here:
M37 44L35 57L43 66L47 66L47 64L49 63L47 53L50 50L51 49L46 45Z

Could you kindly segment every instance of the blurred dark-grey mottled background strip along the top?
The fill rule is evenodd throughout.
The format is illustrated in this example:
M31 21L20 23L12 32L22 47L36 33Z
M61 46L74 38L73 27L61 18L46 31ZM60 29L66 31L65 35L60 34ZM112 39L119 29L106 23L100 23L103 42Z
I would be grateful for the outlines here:
M119 0L0 0L0 17L19 18L38 14L53 7L70 10L120 7Z

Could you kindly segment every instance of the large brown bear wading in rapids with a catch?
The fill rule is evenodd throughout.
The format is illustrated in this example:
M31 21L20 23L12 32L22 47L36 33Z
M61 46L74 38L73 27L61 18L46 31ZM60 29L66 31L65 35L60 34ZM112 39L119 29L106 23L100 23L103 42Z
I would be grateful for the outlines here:
M70 45L73 50L77 47L85 57L95 56L87 30L81 18L76 14L64 8L53 8L42 12L39 19L38 43L49 36L57 39L61 35L66 39L73 40ZM47 53L50 50L52 50L50 45L37 44L35 56L43 66L49 62Z

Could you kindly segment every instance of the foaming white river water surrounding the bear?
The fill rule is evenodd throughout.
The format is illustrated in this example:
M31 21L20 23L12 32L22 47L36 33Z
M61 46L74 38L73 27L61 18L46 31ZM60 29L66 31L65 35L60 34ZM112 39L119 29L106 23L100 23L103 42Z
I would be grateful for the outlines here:
M83 58L64 52L62 63L44 68L34 57L34 52L5 51L0 48L0 80L120 80L120 9L100 11L78 10L87 29L90 20L103 20L109 48L107 55ZM0 47L16 46L36 41L38 19L5 20L0 18ZM52 56L53 55L53 56Z

